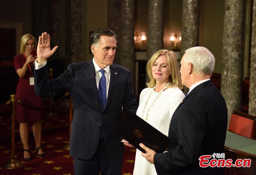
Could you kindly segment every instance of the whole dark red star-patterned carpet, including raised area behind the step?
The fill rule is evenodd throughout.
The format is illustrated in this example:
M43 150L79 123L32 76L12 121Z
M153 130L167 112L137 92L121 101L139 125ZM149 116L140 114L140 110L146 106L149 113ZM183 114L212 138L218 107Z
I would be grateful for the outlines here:
M2 112L0 116L0 175L51 175L51 174L73 174L73 158L69 156L69 151L62 149L63 145L69 140L69 116L68 111L59 108L56 116L46 116L42 123L42 148L46 156L40 158L36 151L30 153L32 161L24 161L23 147L18 135L18 125L16 125L16 140L15 140L15 160L22 161L24 165L16 169L4 169L2 165L10 160L11 155L11 120L10 113ZM57 129L52 129L58 127ZM33 134L29 135L30 150L35 149ZM132 175L135 160L135 149L125 147L125 155L123 158L122 175Z

